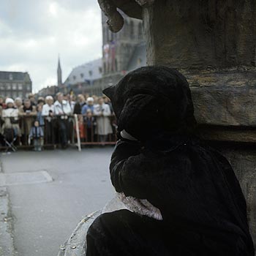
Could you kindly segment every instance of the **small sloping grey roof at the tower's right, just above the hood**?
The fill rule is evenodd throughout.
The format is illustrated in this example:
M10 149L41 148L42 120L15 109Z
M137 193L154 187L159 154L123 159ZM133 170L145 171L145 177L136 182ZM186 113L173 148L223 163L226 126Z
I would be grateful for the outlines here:
M140 43L135 46L131 58L127 66L127 71L130 72L138 67L146 66L146 43Z

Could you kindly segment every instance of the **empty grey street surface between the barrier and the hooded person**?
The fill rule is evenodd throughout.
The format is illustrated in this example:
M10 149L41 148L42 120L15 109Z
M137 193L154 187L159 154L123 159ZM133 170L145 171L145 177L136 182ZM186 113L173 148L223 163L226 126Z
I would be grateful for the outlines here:
M112 151L105 147L1 154L0 186L9 192L15 255L57 255L80 219L113 197L108 173Z

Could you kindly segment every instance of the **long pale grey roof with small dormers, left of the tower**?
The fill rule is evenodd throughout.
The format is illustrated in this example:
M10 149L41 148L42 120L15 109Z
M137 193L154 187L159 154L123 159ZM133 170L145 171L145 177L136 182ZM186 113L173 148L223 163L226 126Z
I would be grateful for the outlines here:
M90 83L102 78L102 59L96 59L88 63L75 67L64 82L65 86L77 83Z

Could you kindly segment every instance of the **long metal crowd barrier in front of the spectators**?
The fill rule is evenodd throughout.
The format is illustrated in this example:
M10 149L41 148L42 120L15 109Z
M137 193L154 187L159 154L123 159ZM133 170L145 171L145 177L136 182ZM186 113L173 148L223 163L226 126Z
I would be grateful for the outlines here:
M4 121L10 118L11 127L4 127ZM96 146L114 145L116 143L116 118L115 116L104 117L86 115L61 115L46 116L19 116L18 118L1 118L0 150L10 148L11 143L15 148L33 148L33 140L29 144L29 133L34 121L39 121L44 132L42 148L56 148L61 145L61 139L67 136L67 146ZM15 119L15 120L14 120ZM100 120L101 119L101 120ZM108 127L106 127L108 126ZM100 131L108 130L106 134ZM62 136L62 137L61 137Z

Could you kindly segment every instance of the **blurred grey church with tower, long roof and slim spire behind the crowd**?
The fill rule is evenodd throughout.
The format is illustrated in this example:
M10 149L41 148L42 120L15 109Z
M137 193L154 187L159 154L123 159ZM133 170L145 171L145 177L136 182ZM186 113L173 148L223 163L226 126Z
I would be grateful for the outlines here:
M61 86L58 63L59 91L75 94L102 95L102 90L117 83L127 72L146 65L146 45L141 20L124 15L124 28L112 33L102 13L102 58L72 69Z

